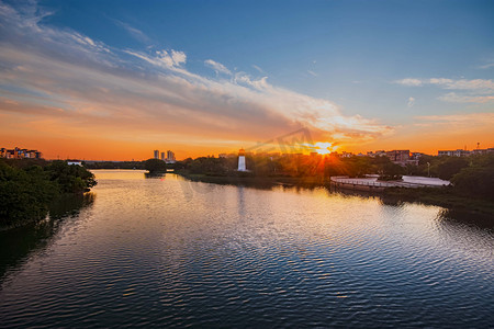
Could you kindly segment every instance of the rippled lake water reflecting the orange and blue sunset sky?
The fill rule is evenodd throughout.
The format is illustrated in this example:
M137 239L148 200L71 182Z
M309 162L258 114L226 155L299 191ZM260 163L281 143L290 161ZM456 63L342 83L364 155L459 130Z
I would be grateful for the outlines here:
M74 206L0 232L0 327L494 324L494 232L476 215L94 173Z

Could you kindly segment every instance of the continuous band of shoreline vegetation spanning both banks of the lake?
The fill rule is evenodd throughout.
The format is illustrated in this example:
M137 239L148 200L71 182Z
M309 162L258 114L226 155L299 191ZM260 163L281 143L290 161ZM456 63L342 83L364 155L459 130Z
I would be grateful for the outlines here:
M417 202L447 208L468 209L494 216L494 155L458 157L424 156L418 166L401 167L386 157L319 155L246 155L249 171L236 171L238 158L200 157L173 164L162 160L93 162L69 166L66 161L43 159L0 159L0 229L22 226L46 217L52 204L65 194L82 194L97 184L88 169L146 169L148 177L169 169L192 180L218 184L274 185L330 189L330 178L362 178L378 174L382 181L400 180L403 174L450 180L441 188L386 188L378 195L392 202Z

